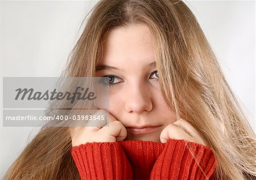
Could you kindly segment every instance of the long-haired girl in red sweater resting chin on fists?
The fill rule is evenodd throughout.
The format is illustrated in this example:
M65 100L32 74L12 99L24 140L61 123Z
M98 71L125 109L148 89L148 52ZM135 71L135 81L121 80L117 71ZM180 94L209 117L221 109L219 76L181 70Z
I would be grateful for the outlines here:
M255 134L182 1L98 2L63 75L109 77L109 127L43 127L5 179L256 178Z

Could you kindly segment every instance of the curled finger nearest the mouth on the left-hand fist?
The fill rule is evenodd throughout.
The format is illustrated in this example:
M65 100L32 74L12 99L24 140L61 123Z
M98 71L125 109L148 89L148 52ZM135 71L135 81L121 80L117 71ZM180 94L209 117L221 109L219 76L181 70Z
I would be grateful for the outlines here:
M120 121L113 121L109 123L109 126L101 128L102 134L109 134L116 138L116 141L123 141L127 136L127 131L125 126Z

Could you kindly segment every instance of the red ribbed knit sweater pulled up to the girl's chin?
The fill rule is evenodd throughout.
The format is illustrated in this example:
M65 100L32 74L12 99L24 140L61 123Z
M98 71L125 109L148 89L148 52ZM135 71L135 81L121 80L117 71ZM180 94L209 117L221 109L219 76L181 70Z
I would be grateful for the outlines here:
M216 168L209 147L175 139L86 143L73 147L72 157L81 179L209 179Z

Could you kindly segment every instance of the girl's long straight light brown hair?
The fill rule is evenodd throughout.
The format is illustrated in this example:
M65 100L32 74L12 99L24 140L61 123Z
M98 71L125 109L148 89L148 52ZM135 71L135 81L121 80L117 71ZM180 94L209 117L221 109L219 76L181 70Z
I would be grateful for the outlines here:
M214 179L256 179L256 138L207 38L182 1L103 0L94 6L62 76L95 76L110 29L144 23L154 39L160 87L177 118L206 140ZM68 127L43 127L5 179L79 179Z

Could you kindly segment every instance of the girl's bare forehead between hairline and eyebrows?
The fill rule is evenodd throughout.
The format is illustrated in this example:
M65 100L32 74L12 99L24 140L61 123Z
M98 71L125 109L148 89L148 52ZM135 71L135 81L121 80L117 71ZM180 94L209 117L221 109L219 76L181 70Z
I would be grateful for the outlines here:
M148 65L155 61L151 32L144 24L132 24L129 27L110 30L103 45L104 64Z

